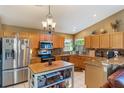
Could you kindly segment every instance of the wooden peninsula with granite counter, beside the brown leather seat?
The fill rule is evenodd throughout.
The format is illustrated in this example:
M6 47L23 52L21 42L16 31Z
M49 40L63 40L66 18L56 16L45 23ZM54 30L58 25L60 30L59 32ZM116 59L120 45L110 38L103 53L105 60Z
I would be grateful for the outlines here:
M88 88L99 88L119 68L124 68L124 57L111 59L96 57L85 62L85 84Z

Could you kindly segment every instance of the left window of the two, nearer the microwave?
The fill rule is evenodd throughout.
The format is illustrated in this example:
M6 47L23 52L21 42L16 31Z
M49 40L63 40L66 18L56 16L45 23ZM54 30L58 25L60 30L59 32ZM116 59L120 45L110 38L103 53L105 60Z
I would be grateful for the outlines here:
M72 51L73 50L73 40L65 39L64 41L64 51Z

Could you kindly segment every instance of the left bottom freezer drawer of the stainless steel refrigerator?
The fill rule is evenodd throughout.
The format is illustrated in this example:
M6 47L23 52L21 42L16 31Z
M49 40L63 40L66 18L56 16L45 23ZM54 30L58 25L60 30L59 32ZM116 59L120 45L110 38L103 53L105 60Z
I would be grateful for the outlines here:
M8 86L14 84L14 70L3 71L2 86Z

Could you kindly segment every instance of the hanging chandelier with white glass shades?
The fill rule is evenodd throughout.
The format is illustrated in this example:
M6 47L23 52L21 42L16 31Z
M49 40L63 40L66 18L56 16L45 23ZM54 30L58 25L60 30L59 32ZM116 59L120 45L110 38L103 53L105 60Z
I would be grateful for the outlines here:
M53 17L52 17L52 14L50 12L50 5L49 5L49 13L46 16L46 21L42 21L42 26L43 26L45 31L51 32L51 31L55 30L56 23L53 22Z

